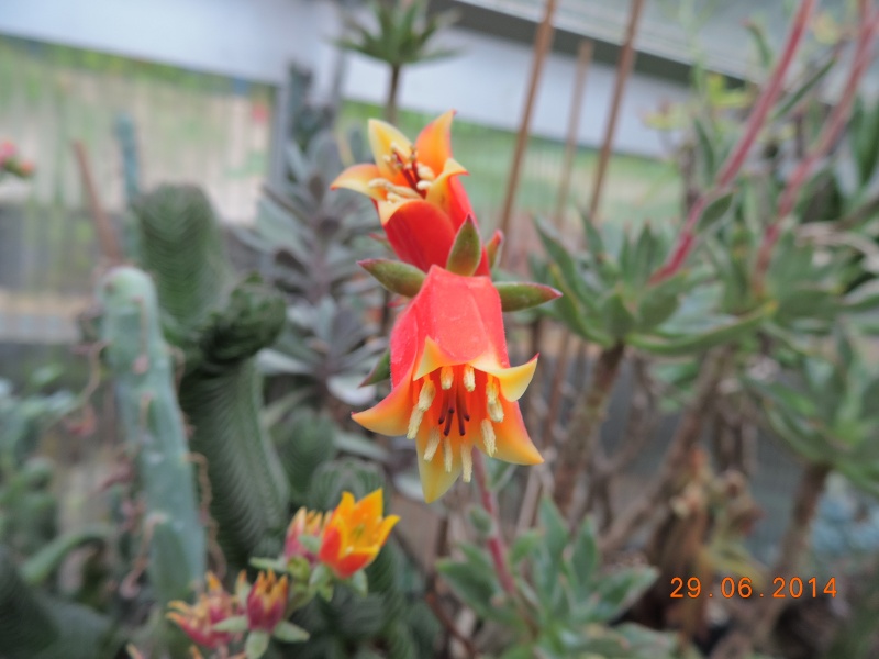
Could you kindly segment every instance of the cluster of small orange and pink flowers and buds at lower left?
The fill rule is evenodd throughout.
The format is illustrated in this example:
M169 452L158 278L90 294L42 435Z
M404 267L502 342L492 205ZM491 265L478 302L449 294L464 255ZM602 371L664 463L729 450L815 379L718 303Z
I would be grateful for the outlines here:
M351 579L375 560L399 521L397 515L383 516L382 507L383 494L378 489L360 501L355 501L351 492L343 492L336 509L325 514L300 509L287 529L283 561L278 567L304 559L311 568L325 566L327 579ZM166 617L209 649L237 643L245 632L278 635L285 626L294 628L285 622L293 587L307 592L313 587L308 577L304 583L296 583L296 578L291 583L289 577L278 577L269 569L260 571L251 585L242 572L232 594L209 572L207 591L198 602L171 602Z

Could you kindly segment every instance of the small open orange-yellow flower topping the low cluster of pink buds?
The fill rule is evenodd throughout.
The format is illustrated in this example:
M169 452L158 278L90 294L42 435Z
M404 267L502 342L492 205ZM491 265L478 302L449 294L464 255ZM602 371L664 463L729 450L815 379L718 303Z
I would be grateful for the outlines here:
M351 492L329 513L319 558L338 579L348 579L371 563L388 539L397 515L382 516L381 488L355 502Z

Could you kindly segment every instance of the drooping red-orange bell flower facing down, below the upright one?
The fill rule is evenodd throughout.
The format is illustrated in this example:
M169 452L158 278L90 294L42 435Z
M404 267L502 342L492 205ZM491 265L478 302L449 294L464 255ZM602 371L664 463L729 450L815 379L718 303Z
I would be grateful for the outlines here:
M515 401L536 357L510 367L501 301L487 277L433 267L391 332L391 393L353 415L382 435L414 439L427 502L472 474L472 449L518 465L543 462Z

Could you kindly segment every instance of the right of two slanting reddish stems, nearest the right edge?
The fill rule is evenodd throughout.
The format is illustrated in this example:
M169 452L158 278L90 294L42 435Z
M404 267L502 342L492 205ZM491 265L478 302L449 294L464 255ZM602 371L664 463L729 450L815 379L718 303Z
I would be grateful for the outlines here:
M769 269L769 261L772 257L772 248L781 234L781 223L797 202L800 189L812 174L815 165L833 148L839 139L839 135L848 123L852 105L855 102L860 80L865 71L869 68L872 60L872 46L876 40L877 29L879 29L879 11L872 16L868 15L868 3L861 1L860 5L860 32L858 33L855 55L852 59L852 69L848 72L839 102L834 105L824 130L819 135L815 147L800 160L797 169L793 170L785 191L778 202L775 220L766 227L757 253L757 266L755 268L754 286L758 291L763 288L763 280Z

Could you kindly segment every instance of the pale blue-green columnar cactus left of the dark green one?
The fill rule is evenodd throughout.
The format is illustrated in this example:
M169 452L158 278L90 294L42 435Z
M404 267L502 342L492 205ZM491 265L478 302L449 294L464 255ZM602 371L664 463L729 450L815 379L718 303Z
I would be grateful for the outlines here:
M156 599L167 603L200 582L207 554L170 348L159 328L156 290L145 272L114 268L98 283L97 297L104 357L146 498L149 580Z

